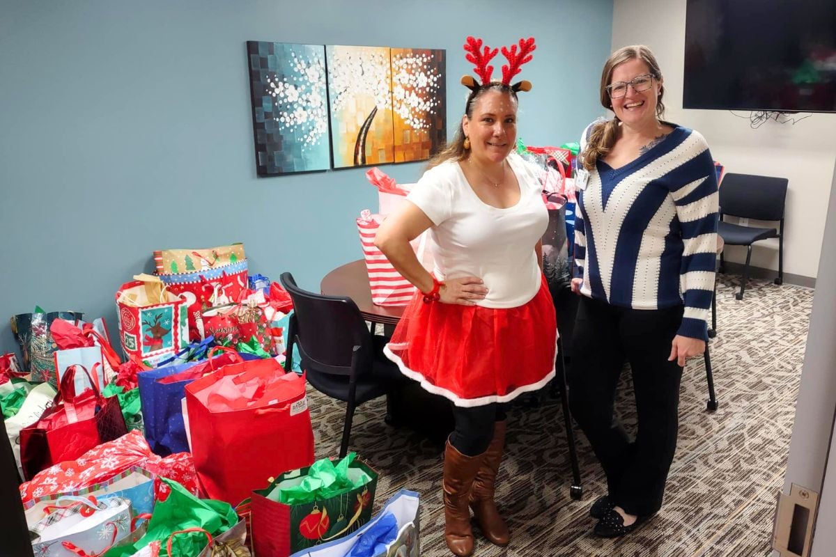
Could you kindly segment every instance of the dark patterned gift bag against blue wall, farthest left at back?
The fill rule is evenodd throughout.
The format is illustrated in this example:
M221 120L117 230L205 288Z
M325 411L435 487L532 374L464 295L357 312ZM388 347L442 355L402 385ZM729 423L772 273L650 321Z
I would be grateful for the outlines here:
M12 332L23 355L23 369L31 372L32 381L48 381L53 387L58 387L53 359L53 352L57 346L52 333L49 332L49 326L56 319L64 319L75 325L81 321L83 315L81 311L35 311L11 318Z

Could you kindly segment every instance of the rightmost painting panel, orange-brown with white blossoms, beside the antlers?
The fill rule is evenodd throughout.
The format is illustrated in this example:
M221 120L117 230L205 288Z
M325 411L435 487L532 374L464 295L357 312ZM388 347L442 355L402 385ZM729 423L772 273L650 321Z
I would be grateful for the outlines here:
M392 48L395 162L426 160L446 140L445 51Z

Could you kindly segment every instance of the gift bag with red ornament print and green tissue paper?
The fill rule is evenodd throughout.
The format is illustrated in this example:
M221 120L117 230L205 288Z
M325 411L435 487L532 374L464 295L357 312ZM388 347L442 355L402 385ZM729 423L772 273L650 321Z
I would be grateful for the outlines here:
M371 518L377 473L354 460L327 458L280 474L252 493L252 544L257 555L288 557L359 529Z

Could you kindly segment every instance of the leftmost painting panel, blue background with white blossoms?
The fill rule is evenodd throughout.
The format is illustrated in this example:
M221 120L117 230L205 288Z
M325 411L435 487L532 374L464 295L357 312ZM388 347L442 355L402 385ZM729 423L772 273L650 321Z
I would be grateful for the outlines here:
M247 41L257 175L328 170L324 45Z

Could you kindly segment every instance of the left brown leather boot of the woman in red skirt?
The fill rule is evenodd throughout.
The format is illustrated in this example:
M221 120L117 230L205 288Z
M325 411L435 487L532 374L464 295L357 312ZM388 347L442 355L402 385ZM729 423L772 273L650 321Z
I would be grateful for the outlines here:
M473 553L473 531L467 503L483 455L465 456L450 441L447 441L444 450L444 539L447 547L459 557Z

